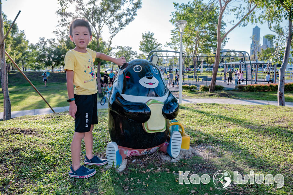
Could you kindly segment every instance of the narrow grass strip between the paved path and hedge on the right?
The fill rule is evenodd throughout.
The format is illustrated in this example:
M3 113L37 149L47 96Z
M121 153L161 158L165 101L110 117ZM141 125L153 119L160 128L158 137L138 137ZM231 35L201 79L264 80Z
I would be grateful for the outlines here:
M175 97L179 98L179 92L172 92ZM277 92L240 92L240 91L215 91L200 92L200 91L182 91L183 98L233 98L233 99L255 99L278 101ZM293 102L293 91L285 92L285 101Z

